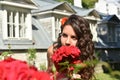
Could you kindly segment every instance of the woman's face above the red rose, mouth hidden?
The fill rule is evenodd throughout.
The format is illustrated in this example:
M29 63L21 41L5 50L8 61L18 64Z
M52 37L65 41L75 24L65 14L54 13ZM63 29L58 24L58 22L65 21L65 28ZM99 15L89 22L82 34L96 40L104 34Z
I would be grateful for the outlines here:
M63 28L63 32L61 34L61 43L66 46L76 46L77 44L77 36L71 27L71 25L66 25Z

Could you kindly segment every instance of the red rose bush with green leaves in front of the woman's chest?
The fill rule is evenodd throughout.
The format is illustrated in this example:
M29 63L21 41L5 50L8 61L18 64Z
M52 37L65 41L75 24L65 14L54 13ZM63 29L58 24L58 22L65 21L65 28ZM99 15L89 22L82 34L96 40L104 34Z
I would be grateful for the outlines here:
M61 46L52 55L52 61L57 70L57 78L63 74L66 77L73 77L86 65L80 60L81 51L75 46ZM64 76L64 77L65 77ZM60 79L62 80L62 79Z

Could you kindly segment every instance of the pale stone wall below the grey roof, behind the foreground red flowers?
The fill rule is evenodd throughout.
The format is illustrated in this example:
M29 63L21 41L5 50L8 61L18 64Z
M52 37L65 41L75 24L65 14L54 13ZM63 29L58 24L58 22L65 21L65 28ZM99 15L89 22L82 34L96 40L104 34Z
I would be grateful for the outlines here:
M12 51L12 57L18 60L27 61L27 50ZM36 52L35 66L40 69L40 65L47 68L47 53L46 50L38 50Z

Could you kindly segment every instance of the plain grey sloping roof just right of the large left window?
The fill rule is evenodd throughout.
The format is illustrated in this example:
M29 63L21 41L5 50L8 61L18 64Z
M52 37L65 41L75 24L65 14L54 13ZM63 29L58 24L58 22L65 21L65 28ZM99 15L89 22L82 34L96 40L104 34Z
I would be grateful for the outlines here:
M49 38L49 34L47 31L42 27L39 21L35 18L32 18L33 23L33 39L35 41L36 48L43 48L47 49L51 44L52 40Z

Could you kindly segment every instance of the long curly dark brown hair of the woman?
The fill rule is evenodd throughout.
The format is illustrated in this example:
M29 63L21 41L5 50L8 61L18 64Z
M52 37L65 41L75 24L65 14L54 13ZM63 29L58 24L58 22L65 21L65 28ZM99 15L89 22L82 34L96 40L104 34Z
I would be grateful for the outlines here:
M73 14L68 18L68 20L63 25L61 25L61 33L65 25L71 25L78 37L78 42L76 46L82 52L80 59L83 62L94 60L95 59L94 43L92 41L93 35L90 30L89 22L83 17ZM61 38L60 34L59 34L57 45L55 46L55 48L59 48L60 46L62 46L61 40L60 40ZM82 80L91 79L94 73L94 67L95 67L94 65L88 66L79 72Z

